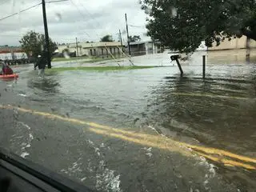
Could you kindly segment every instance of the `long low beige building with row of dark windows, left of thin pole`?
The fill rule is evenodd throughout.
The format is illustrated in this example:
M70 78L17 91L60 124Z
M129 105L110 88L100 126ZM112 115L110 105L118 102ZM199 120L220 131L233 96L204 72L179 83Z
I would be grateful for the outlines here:
M70 53L77 52L76 43L59 45L58 51L62 53L64 50ZM121 42L78 42L78 56L94 56L94 57L111 57L122 55Z

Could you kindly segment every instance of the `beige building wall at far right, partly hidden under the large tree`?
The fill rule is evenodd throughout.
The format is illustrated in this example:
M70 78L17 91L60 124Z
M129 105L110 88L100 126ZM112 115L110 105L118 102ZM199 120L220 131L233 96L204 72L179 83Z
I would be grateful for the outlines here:
M208 47L208 50L246 49L247 46L250 48L256 48L256 41L250 39L247 42L247 37L242 36L242 38L234 38L230 41L226 38L219 46L216 46L216 42L214 42L214 45L212 47Z

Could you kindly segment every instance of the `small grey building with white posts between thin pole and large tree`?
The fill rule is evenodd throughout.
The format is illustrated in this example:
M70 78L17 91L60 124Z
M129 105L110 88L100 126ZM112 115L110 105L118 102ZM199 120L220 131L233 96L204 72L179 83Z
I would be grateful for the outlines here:
M126 48L126 51L128 52L128 47ZM161 44L159 42L130 42L131 56L158 53L162 53Z

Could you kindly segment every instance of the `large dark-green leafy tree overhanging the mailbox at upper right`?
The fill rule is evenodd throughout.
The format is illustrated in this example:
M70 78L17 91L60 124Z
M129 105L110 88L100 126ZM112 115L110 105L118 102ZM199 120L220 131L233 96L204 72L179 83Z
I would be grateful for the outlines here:
M154 41L171 50L192 52L202 41L217 46L225 38L256 40L256 1L254 0L142 0L149 16L146 28Z

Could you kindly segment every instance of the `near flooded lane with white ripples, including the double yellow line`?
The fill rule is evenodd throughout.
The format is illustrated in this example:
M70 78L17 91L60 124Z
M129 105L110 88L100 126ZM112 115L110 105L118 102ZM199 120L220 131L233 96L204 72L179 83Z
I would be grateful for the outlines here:
M97 190L235 191L237 186L223 180L214 162L255 170L254 158L154 132L136 133L21 107L1 108L3 146Z

